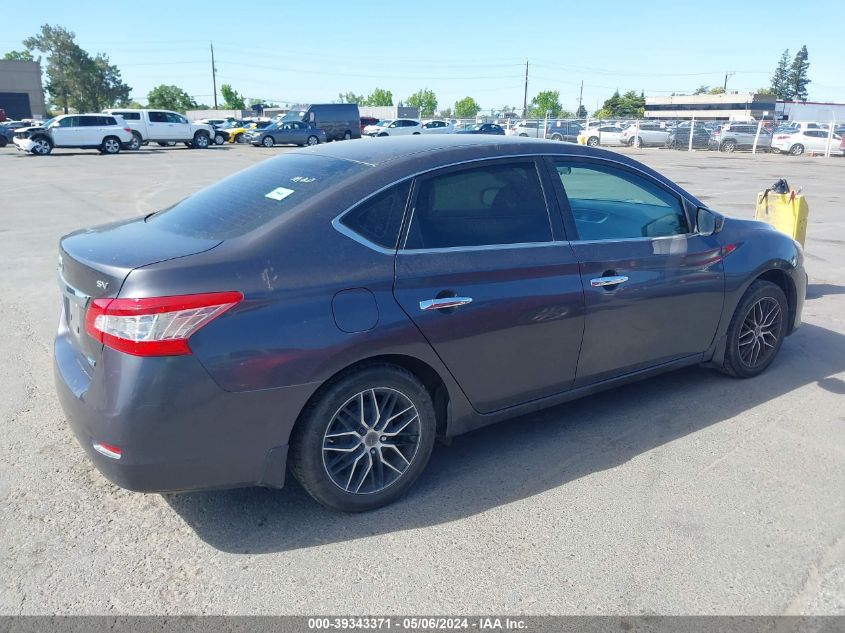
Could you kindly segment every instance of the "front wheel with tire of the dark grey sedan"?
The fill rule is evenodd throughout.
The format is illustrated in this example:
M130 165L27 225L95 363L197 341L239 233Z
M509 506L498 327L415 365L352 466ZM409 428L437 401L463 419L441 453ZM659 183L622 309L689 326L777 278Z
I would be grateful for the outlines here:
M735 378L763 373L786 337L789 305L779 286L758 280L746 290L728 326L721 370Z

